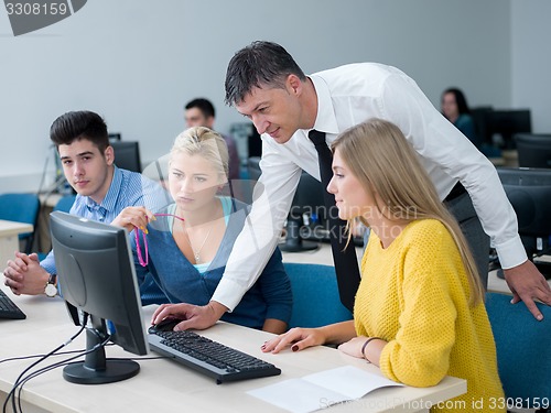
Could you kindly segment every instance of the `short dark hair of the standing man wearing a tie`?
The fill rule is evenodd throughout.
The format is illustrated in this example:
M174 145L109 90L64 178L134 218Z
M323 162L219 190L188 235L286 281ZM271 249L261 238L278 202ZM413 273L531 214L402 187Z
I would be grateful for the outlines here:
M252 42L229 61L226 72L226 105L242 101L255 87L268 85L283 88L289 75L295 75L301 80L306 78L282 46L272 42Z

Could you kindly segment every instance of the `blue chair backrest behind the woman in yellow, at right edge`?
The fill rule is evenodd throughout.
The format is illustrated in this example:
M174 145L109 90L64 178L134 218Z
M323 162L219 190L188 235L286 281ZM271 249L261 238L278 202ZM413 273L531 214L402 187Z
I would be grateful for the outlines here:
M551 396L551 307L537 304L544 317L538 322L523 304L512 305L510 300L510 295L486 293L499 378L506 400L538 409L530 401L541 403Z

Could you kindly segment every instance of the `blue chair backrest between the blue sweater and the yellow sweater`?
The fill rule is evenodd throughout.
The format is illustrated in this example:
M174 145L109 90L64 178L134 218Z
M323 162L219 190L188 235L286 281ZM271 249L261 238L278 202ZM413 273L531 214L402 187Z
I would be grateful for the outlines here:
M352 319L341 303L335 268L321 264L283 264L291 280L293 312L289 328L320 327Z

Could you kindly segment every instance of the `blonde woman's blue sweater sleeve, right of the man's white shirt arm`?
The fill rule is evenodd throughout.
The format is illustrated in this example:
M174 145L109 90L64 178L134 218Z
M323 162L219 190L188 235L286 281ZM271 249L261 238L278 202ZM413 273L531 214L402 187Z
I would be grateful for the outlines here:
M257 283L267 304L266 318L276 318L289 323L293 297L291 282L281 260L281 251L276 248Z

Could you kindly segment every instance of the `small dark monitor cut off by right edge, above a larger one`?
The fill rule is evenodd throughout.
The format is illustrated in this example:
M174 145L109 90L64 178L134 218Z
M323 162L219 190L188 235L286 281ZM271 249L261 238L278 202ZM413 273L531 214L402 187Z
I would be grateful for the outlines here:
M517 133L515 142L520 167L551 167L551 134Z

